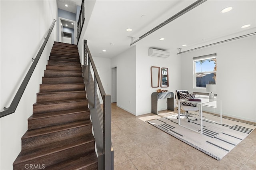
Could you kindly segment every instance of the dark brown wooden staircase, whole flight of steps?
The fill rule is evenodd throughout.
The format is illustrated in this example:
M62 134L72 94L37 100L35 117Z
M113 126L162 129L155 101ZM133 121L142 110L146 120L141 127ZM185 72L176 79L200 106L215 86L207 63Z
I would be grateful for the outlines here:
M14 170L97 169L76 45L54 42Z

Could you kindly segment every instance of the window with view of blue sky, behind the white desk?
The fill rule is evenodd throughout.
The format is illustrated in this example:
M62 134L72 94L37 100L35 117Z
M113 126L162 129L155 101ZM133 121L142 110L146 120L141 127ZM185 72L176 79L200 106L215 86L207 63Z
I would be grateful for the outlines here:
M194 88L216 84L217 61L216 53L194 57Z

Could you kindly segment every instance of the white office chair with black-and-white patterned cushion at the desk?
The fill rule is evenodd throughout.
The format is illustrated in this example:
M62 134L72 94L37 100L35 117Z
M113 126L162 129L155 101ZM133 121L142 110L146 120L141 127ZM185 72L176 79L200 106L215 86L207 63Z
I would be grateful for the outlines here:
M180 94L182 94L182 96ZM186 94L188 94L188 95L186 95ZM180 99L180 97L182 97L182 99L185 99L186 96L191 97L191 95L192 94L189 94L187 90L176 90L175 91L175 100L176 100L177 107L178 107L178 100ZM184 116L186 119L188 119L188 122L190 122L190 117L194 117L194 116L190 115L190 113L188 113L188 111L198 111L197 105L194 105L191 103L181 102L180 108L183 111L185 111L184 113L180 113L180 116ZM194 117L194 118L197 121L196 117ZM177 116L177 119L179 119L178 116Z

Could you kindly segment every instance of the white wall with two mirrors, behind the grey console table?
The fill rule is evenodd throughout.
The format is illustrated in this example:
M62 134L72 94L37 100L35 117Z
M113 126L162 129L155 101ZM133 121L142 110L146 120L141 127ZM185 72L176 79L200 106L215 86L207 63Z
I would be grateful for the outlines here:
M180 89L181 57L176 55L177 51L170 51L170 57L150 57L148 47L137 45L136 48L136 115L151 113L151 94L157 89L165 89L173 92ZM150 67L167 67L169 72L169 87L151 87ZM160 78L161 79L161 78ZM167 109L167 99L158 100L158 110Z

